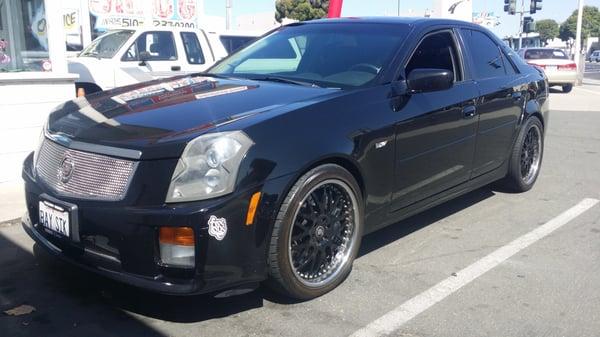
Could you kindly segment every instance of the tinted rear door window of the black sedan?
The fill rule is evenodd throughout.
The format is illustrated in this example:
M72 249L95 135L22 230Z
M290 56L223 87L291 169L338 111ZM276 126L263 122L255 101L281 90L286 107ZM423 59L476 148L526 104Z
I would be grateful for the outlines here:
M477 78L506 75L500 48L492 39L482 32L469 29L463 29L462 35L471 53Z

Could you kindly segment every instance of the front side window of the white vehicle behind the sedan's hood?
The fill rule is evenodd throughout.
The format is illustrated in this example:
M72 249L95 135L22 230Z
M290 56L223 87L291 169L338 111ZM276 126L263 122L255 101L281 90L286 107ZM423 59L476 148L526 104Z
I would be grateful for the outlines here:
M129 47L123 61L140 61L140 53L146 52L148 61L177 60L175 39L171 32L146 32Z

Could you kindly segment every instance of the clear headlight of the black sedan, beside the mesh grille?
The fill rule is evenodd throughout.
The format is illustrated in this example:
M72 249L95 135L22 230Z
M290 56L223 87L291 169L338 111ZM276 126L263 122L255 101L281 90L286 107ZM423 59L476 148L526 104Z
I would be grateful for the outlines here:
M254 145L242 131L202 135L183 150L166 202L195 201L233 192L238 169Z

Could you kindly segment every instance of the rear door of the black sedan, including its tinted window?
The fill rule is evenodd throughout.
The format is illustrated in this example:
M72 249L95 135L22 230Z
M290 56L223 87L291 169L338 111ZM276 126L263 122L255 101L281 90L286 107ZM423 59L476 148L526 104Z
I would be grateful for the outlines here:
M471 175L477 177L500 167L508 158L526 87L496 40L479 30L461 29L461 35L479 88L479 126Z

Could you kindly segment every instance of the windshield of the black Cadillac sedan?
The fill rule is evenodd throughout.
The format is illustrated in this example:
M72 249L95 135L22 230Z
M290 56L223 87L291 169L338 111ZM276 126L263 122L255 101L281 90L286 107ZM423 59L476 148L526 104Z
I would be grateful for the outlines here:
M283 27L234 53L210 73L277 77L336 88L375 79L408 33L405 24L319 23Z

